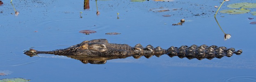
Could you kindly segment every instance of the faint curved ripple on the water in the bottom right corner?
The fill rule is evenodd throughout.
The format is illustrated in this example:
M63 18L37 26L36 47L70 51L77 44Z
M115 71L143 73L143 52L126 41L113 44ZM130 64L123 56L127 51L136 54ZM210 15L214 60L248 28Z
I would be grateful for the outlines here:
M238 76L225 78L224 82L256 82L256 77L254 76Z

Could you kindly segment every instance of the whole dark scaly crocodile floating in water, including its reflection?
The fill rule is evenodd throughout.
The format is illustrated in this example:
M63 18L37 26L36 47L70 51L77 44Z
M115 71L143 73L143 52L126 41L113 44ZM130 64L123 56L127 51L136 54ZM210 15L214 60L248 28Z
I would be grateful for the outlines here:
M188 59L197 58L213 59L222 58L224 56L231 57L233 54L240 55L242 50L235 51L234 48L206 46L206 45L192 45L181 46L180 48L171 46L167 50L161 47L154 48L151 45L145 48L141 44L131 47L127 44L108 43L107 39L95 39L91 41L83 41L82 43L70 46L69 48L53 50L53 51L37 51L30 49L24 54L33 57L37 54L54 54L63 55L73 59L80 60L82 63L87 64L105 64L110 59L121 59L133 56L138 59L142 56L150 58L153 55L160 57L167 54L169 57L178 56L179 58L187 57Z

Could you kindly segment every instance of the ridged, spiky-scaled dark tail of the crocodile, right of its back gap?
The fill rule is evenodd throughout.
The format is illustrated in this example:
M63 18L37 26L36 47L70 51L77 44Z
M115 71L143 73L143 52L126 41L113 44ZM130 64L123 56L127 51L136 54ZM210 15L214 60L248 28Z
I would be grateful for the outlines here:
M169 57L178 56L180 58L187 57L188 59L197 58L199 60L207 58L213 59L215 57L222 58L224 56L231 57L234 53L240 55L242 50L235 51L234 48L217 47L217 46L206 46L206 45L192 45L181 46L180 48L171 46L167 50Z

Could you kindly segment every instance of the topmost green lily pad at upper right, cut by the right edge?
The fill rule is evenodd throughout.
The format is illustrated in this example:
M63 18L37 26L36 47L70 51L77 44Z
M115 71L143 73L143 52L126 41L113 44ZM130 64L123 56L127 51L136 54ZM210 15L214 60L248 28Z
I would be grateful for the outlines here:
M228 5L229 8L256 8L256 3L241 2Z

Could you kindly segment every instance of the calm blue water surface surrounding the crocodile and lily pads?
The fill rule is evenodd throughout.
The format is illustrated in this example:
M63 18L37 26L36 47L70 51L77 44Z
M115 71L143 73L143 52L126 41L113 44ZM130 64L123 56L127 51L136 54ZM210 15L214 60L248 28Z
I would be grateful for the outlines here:
M4 78L26 78L31 82L225 82L255 81L256 19L251 14L217 14L217 20L231 39L224 41L224 33L213 17L222 0L176 0L173 2L130 2L130 0L90 0L90 9L83 9L83 0L14 0L12 3L20 14L14 15L9 0L0 6L0 71L12 71ZM226 5L252 0L225 2ZM153 12L154 8L171 11ZM182 9L181 9L182 8ZM172 9L181 9L172 11ZM256 11L256 9L250 9ZM80 12L82 11L82 18ZM214 12L213 12L214 11ZM13 14L11 14L13 13ZM119 19L117 19L119 13ZM194 14L202 14L194 16ZM171 15L163 17L162 15ZM224 17L221 17L224 16ZM181 19L185 23L173 26ZM80 30L94 30L85 35ZM119 35L106 35L119 32ZM83 64L79 60L55 55L29 57L23 50L56 50L67 48L85 40L107 39L110 43L135 46L151 44L164 49L193 44L217 45L243 50L241 55L222 59L180 59L178 57L153 56L149 59L108 60L106 64Z

